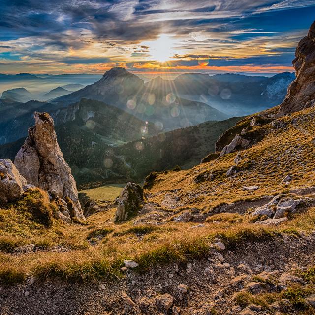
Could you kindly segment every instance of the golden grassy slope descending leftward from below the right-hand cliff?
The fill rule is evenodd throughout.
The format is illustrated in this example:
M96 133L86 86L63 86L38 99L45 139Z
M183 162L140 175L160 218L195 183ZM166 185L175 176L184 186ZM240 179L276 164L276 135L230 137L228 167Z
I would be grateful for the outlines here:
M315 109L280 118L284 128L275 129L271 124L255 126L252 133L264 138L252 147L241 151L239 172L226 176L226 171L235 165L235 153L204 163L190 170L159 174L150 189L161 202L168 191L180 189L177 194L190 207L209 210L221 203L232 203L241 199L253 199L264 195L275 195L287 189L315 185ZM213 174L214 179L196 184L200 174ZM285 185L283 179L290 174L293 180ZM244 186L258 185L259 189L248 192Z

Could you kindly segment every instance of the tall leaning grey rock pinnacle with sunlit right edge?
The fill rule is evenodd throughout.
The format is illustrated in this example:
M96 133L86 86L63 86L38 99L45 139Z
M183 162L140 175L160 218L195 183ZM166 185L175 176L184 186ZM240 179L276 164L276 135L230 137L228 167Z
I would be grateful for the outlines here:
M56 190L71 201L71 217L85 220L71 169L57 142L54 121L47 113L35 113L35 126L17 153L14 164L29 184L43 190Z

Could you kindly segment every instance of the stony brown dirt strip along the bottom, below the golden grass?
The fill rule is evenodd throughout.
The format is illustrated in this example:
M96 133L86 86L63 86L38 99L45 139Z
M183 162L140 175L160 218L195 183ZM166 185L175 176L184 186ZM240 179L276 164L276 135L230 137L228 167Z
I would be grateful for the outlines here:
M144 275L124 267L124 278L113 283L42 284L31 277L26 284L2 286L1 314L280 315L302 314L307 307L303 314L315 314L315 271L306 273L315 264L315 232L231 250L218 245L207 259Z

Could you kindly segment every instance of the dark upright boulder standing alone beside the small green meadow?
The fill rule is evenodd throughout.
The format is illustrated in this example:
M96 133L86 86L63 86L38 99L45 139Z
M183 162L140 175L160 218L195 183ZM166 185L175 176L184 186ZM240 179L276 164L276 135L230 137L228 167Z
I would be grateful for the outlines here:
M117 210L115 222L121 222L135 217L142 207L142 203L147 200L143 188L139 184L128 183L118 198L115 199Z

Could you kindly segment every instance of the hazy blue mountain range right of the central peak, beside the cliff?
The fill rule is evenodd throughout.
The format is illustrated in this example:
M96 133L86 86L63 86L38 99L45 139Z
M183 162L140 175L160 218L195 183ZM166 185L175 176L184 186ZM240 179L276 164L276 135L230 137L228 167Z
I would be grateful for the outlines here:
M284 72L273 77L239 74L192 73L174 80L155 78L146 83L150 91L177 93L180 97L204 102L230 116L249 115L280 104L295 74Z

